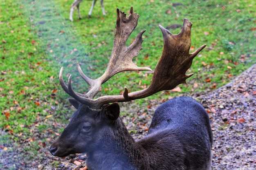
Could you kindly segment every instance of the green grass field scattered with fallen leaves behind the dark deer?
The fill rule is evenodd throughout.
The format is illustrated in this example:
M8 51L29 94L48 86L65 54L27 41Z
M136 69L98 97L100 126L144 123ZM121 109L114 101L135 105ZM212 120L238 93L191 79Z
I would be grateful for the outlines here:
M72 1L52 1L58 13L48 16L48 19L54 18L54 15L68 19ZM60 66L66 66L65 74L68 71L73 74L76 72L75 63L79 61L83 70L92 78L97 78L104 72L112 51L117 7L128 12L130 6L133 6L134 11L140 14L138 26L128 44L139 31L147 30L144 33L144 49L135 58L135 62L138 66L150 66L152 69L155 68L163 47L158 24L165 27L182 24L183 18L193 22L191 52L202 44L207 44L207 47L195 58L189 71L195 75L188 79L187 85L180 86L179 94L200 93L218 88L256 62L254 0L175 3L178 2L181 4L172 4L168 0L106 0L107 15L102 15L97 2L92 18L87 17L90 3L82 2L82 20L78 20L75 11L73 23L60 19L54 20L50 25L52 28L64 25L54 34L54 38L60 37L62 44L68 42L78 49L75 53L69 53L71 59L64 62L65 57L59 55L61 49L59 53L54 53L57 47L49 47L46 41L47 36L53 34L42 36L38 31L40 26L31 24L33 21L27 12L29 4L0 0L0 128L17 143L29 143L35 153L38 147L42 147L38 145L38 140L31 138L32 134L52 134L50 128L53 125L49 122L52 123L53 119L66 122L63 114L66 110L63 110L61 99L67 95L62 92L57 79ZM66 27L71 28L73 36L62 40L62 30ZM170 31L178 33L180 28ZM55 60L56 56L58 60ZM130 91L145 88L150 84L151 76L145 72L120 73L103 85L101 94L120 94L124 86ZM84 84L80 78L75 89L86 91ZM149 99L161 100L174 95L177 93L162 92ZM139 100L138 104L144 101ZM45 142L47 138L42 137L41 140Z

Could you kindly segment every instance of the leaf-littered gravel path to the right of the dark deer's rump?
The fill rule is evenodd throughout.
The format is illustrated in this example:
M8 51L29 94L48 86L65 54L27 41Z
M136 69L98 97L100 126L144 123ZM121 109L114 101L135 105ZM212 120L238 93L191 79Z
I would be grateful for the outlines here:
M212 170L256 170L256 64L199 100L212 120Z

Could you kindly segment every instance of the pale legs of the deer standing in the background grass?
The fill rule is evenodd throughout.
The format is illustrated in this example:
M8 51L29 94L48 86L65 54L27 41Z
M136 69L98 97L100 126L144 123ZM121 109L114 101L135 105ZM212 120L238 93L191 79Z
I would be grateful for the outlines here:
M93 10L93 7L95 5L97 0L93 0L92 1L92 7L88 13L89 17L91 17L92 15L92 10ZM73 21L73 13L74 13L74 9L75 7L77 8L77 11L78 11L78 16L79 16L79 19L81 19L81 14L80 14L80 10L79 10L79 4L82 2L82 0L74 0L71 8L70 8L70 20ZM103 0L101 0L101 9L102 9L102 13L103 15L106 15L106 12L105 12L105 8L104 8L104 4L103 4Z

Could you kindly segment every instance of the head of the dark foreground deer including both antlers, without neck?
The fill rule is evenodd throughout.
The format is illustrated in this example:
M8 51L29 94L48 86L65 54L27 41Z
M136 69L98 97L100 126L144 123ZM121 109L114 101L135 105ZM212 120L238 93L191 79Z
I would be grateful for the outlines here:
M128 102L148 97L159 91L171 90L179 84L186 83L186 79L193 75L186 75L186 71L190 68L193 58L206 45L189 54L192 23L184 19L182 31L177 35L171 34L159 25L164 38L164 49L148 88L129 93L128 88L124 87L123 95L107 95L94 99L94 96L101 89L101 84L119 72L152 71L148 67L138 67L132 62L132 59L142 49L142 34L145 31L141 31L132 44L126 46L128 37L137 26L138 18L139 15L133 13L132 7L128 17L124 12L117 9L114 45L107 69L101 77L90 79L77 63L81 77L90 85L90 90L86 94L77 93L73 90L71 75L68 78L68 84L65 84L62 77L63 68L61 68L60 84L63 90L73 97L69 101L77 111L72 115L70 124L61 136L52 144L50 148L52 155L63 157L72 153L90 152L90 149L99 146L104 141L104 135L111 135L111 128L119 117L117 102Z

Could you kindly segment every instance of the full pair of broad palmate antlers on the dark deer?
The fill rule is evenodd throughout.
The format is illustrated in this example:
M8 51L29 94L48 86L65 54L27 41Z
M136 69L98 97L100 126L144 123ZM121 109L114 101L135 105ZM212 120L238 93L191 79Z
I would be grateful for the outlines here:
M189 54L192 23L189 22L189 20L184 19L182 31L177 35L172 35L167 29L159 25L164 37L164 49L162 57L155 68L151 84L148 88L128 93L128 88L125 87L123 95L107 95L93 99L93 97L99 92L101 84L119 72L151 71L148 67L138 67L132 62L132 58L136 57L142 49L141 44L143 40L141 36L145 31L141 31L130 46L126 47L125 45L128 37L137 26L138 18L139 15L137 13L133 13L132 7L128 18L126 18L126 14L124 12L117 9L117 25L115 30L114 46L105 73L97 79L90 79L83 73L79 64L77 64L81 77L83 77L85 82L90 85L88 93L83 95L73 91L71 75L68 78L68 86L64 83L62 78L63 68L61 68L59 79L61 86L66 93L82 104L89 106L91 109L99 109L103 104L112 102L128 102L148 97L159 91L171 90L179 84L186 83L186 79L193 75L186 75L186 71L190 68L193 58L202 51L206 45L201 46L194 53Z

